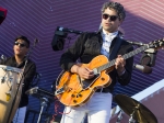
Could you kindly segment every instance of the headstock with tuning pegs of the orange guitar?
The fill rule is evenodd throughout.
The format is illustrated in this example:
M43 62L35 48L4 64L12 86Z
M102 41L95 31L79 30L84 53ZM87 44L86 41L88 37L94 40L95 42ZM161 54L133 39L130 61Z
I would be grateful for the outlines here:
M164 38L155 40L151 43L149 43L151 47L157 49L164 49Z

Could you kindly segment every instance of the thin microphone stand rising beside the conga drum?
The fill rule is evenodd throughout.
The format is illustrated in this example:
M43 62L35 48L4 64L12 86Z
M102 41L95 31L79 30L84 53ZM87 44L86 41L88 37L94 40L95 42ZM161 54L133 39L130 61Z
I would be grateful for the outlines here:
M36 43L38 43L38 40L37 40L37 38L35 40L33 47L36 46ZM23 83L22 83L22 81L23 81L23 80L22 80L22 79L23 79L23 75L24 75L24 71L25 71L25 68L26 68L26 65L27 65L27 62L28 62L28 58L30 58L30 54L32 53L33 47L30 49L28 54L26 55L25 64L24 64L24 67L23 67L23 71L22 71L21 77L20 77L20 78L21 78L21 79L20 79L20 82L19 82L19 85L15 83L15 85L17 85L17 88L16 88L16 92L15 92L15 94L14 94L14 98L13 98L13 101L12 101L12 104L11 104L11 108L10 108L10 112L9 112L9 115L8 115L8 122L7 122L7 123L10 123L10 122L9 122L9 121L10 121L10 116L11 116L13 107L14 107L14 104L15 104L15 100L16 100L17 92L19 92L19 90L20 90L20 86L23 85ZM22 91L21 91L21 94L22 94ZM21 100L21 98L20 98L20 100ZM20 103L20 102L19 102L19 103Z

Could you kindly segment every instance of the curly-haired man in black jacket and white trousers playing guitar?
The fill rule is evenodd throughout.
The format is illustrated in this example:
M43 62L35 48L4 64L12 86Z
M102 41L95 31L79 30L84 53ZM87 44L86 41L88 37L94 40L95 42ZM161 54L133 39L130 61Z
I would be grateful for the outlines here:
M94 77L93 70L79 67L77 60L89 64L98 55L103 54L110 59L112 54L117 53L115 69L109 72L112 83L107 88L97 89L84 105L66 107L60 123L81 123L85 114L87 114L89 123L109 123L114 86L116 82L122 86L128 85L132 72L133 58L125 60L121 55L131 52L133 47L118 36L118 27L125 16L126 12L120 3L112 1L104 3L102 29L97 33L83 33L73 46L62 54L60 65L63 70L91 79ZM113 52L118 44L119 48Z

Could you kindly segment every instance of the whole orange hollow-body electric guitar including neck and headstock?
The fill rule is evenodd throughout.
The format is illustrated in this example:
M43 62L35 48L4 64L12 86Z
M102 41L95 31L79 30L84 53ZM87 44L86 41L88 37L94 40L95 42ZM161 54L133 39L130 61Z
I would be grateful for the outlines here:
M164 40L153 41L125 54L122 57L127 59L148 48L162 47L163 44ZM81 67L87 67L94 71L95 76L92 79L83 79L78 74L61 71L56 81L56 97L65 105L79 107L84 104L98 88L105 88L112 83L108 72L115 68L115 60L109 62L106 56L98 55L89 64L80 64Z

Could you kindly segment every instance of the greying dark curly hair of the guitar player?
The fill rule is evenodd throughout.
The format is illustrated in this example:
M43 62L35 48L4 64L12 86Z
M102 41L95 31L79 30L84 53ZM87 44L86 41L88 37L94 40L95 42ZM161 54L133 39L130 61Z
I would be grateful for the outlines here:
M104 11L107 8L114 9L117 12L117 14L118 14L119 20L125 20L125 18L126 18L126 11L125 11L124 7L120 3L118 3L118 2L112 2L112 1L110 2L105 2L103 4L103 8L102 8L102 13L104 13Z

